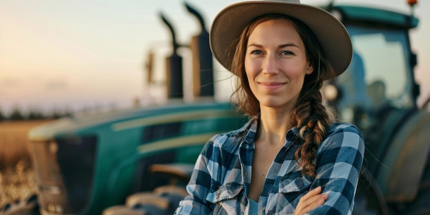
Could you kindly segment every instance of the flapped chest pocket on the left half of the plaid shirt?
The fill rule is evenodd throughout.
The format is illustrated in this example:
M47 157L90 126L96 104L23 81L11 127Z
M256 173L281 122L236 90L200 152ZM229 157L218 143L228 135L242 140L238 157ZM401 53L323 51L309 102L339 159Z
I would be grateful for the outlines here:
M240 214L240 196L244 186L238 183L227 183L207 195L206 200L214 203L214 214Z

